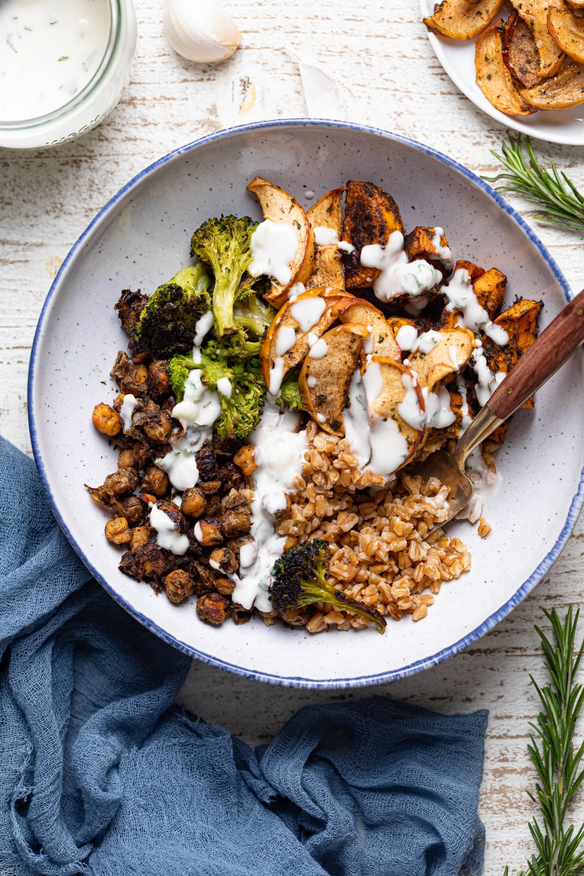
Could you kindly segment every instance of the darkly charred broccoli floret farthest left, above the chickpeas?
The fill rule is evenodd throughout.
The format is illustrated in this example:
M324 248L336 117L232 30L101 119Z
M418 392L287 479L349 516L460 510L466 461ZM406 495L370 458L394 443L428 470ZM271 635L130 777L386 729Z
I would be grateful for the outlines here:
M158 286L131 329L138 352L151 350L157 359L169 359L193 346L196 324L211 307L211 277L198 262Z

